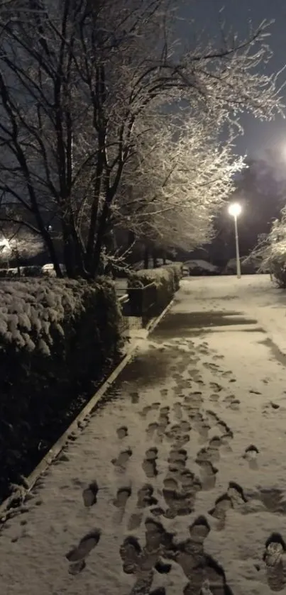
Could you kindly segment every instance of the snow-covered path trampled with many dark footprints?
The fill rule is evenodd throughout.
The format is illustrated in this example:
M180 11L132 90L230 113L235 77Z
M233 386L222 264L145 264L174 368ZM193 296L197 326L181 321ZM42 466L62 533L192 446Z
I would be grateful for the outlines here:
M266 277L182 282L1 530L1 594L286 594L285 304Z

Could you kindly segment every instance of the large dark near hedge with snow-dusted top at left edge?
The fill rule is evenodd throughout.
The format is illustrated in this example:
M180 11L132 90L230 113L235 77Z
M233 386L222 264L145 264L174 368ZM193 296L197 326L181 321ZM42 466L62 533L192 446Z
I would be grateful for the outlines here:
M0 494L1 477L29 457L31 443L40 454L49 420L62 423L82 399L79 389L90 389L119 354L120 324L106 279L0 283Z

